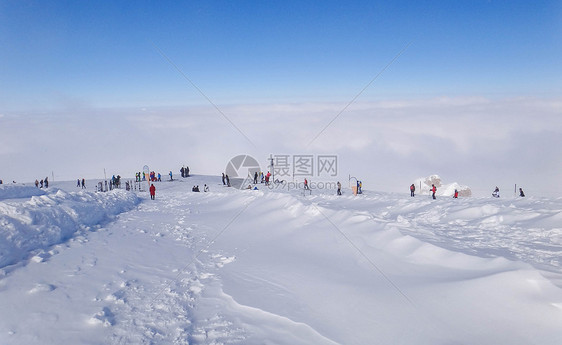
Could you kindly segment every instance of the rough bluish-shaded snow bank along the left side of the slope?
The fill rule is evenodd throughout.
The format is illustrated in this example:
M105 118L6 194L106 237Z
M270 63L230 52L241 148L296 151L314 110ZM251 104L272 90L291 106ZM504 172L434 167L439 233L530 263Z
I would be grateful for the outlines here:
M68 193L56 188L43 191L13 185L2 190L6 191L10 201L0 202L0 268L62 243L79 230L104 224L140 202L135 194L122 190ZM16 196L31 199L12 200ZM33 258L35 262L45 259L42 255Z

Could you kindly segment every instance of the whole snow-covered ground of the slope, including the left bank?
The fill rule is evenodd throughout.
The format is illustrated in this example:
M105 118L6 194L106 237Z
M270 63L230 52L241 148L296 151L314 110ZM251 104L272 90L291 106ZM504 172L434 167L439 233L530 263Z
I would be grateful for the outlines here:
M0 343L562 344L562 198L155 185L0 186Z

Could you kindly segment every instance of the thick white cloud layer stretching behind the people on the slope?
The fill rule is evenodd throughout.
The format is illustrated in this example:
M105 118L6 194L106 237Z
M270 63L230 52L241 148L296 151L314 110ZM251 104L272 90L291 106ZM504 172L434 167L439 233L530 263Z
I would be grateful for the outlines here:
M241 153L265 163L270 153L309 152L338 154L343 174L386 181L375 187L383 190L400 190L432 173L484 189L499 180L558 184L553 173L560 171L557 147L562 147L558 99L357 103L307 147L345 105L219 105L255 147L210 106L4 116L0 158L12 163L2 165L0 178L31 181L52 170L67 179L95 177L104 167L128 175L147 162L163 172L190 164L193 171L219 174Z

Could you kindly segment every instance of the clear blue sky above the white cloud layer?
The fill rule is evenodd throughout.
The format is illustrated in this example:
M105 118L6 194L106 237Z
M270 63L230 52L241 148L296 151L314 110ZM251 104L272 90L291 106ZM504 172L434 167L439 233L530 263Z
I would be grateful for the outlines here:
M0 112L562 92L561 1L1 1Z

